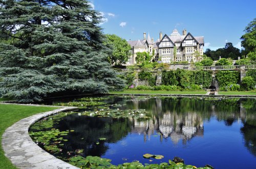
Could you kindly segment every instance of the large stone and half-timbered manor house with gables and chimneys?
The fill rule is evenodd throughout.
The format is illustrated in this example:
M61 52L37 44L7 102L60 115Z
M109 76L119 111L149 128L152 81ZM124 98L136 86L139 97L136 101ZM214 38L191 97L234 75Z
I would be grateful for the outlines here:
M154 39L148 36L146 38L146 33L143 33L143 39L137 41L128 41L132 46L131 57L126 65L136 64L136 53L137 52L150 52L154 54L153 59L155 61L162 61L162 63L180 62L188 61L197 62L202 59L203 47L204 47L204 37L194 37L184 29L182 35L179 34L177 29L174 29L172 34L162 35L159 34L159 39L154 42ZM174 52L176 49L176 54ZM176 55L176 57L175 57Z

